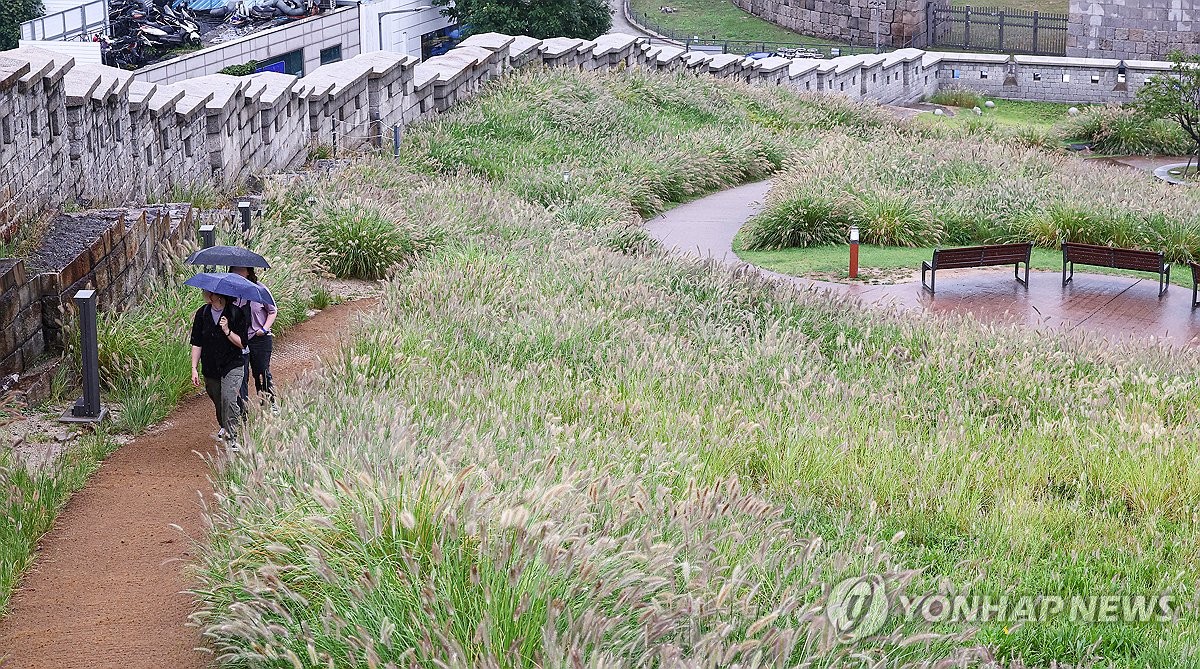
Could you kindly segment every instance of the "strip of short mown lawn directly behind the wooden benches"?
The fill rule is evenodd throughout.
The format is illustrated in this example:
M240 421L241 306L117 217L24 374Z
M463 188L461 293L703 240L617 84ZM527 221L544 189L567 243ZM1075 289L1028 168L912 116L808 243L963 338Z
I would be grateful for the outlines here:
M734 245L737 247L737 245ZM850 247L817 246L811 248L785 248L782 251L745 251L736 248L738 258L766 267L768 270L794 277L814 277L832 281L850 278ZM858 252L858 266L874 270L920 270L920 263L932 259L931 247L905 248L896 246L862 245ZM1062 252L1052 248L1034 248L1031 260L1032 269L1062 271ZM1126 272L1105 267L1079 265L1079 272L1094 275L1120 275L1129 277L1151 277L1145 272ZM1171 283L1192 288L1192 275L1186 266L1176 266L1171 271Z

